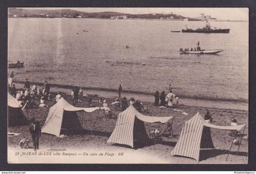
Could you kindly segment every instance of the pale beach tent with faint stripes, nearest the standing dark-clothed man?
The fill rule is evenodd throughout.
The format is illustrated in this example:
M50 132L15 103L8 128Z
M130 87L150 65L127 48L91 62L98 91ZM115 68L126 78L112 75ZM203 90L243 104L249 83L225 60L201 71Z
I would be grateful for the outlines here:
M84 111L91 113L99 108L77 108L69 104L63 97L50 108L48 117L41 129L42 133L60 136L62 129L66 130L82 130L77 112Z

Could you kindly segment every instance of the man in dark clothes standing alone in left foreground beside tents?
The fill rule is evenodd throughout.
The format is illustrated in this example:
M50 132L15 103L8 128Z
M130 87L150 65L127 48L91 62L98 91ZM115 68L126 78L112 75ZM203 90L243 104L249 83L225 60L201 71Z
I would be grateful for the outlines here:
M34 150L39 148L39 137L41 136L41 127L35 118L31 119L29 131L33 140Z

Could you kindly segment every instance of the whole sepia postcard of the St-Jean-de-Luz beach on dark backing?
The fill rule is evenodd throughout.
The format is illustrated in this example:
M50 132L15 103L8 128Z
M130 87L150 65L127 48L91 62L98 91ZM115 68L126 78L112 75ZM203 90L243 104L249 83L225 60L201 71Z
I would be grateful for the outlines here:
M248 8L7 15L9 164L248 164Z

